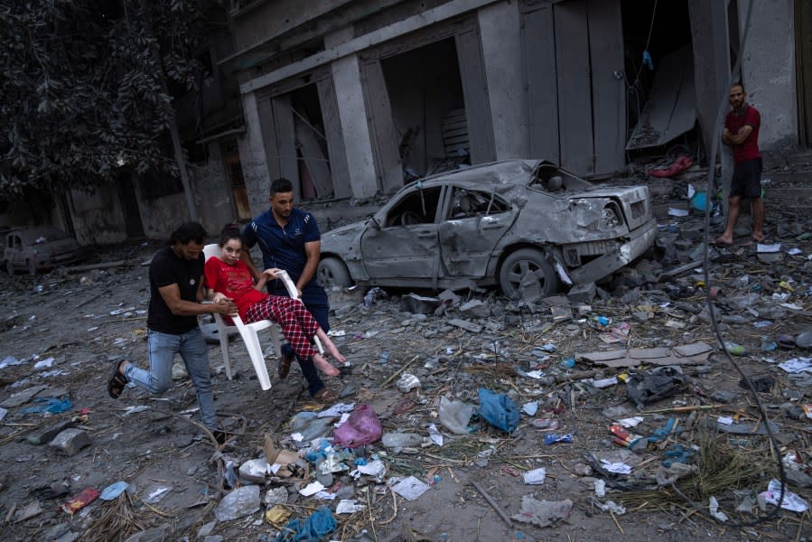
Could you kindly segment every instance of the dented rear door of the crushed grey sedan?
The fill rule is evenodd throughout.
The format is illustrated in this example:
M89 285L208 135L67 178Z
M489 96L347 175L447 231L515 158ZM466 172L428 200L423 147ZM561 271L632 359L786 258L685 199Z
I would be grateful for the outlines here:
M449 192L438 232L443 268L446 276L481 278L518 211L493 192L460 186L450 186Z

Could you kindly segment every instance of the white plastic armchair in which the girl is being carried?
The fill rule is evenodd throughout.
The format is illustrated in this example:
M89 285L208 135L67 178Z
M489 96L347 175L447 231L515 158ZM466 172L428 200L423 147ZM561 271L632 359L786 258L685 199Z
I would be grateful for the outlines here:
M208 260L210 257L217 256L219 257L219 246L216 243L211 245L206 245L203 247L203 255ZM291 298L298 300L299 299L299 291L296 289L296 285L294 285L294 281L291 280L291 277L287 274L287 271L283 270L276 274L277 278L282 279L285 283L285 288L287 289L288 294L290 294ZM301 302L300 302L301 303ZM229 358L229 333L239 332L239 336L242 337L243 342L246 344L246 349L248 350L248 357L251 358L251 363L254 365L254 370L257 371L257 378L259 379L259 385L262 387L263 390L267 390L271 388L271 378L268 376L268 369L265 364L265 356L262 353L262 345L259 343L259 335L257 332L262 330L269 330L271 333L271 340L274 341L274 350L276 352L276 358L279 359L282 356L282 344L279 340L279 326L277 326L274 322L270 320L260 320L259 322L253 323L244 323L242 319L235 314L231 316L231 320L234 322L234 325L228 325L224 320L221 314L214 313L214 322L217 324L217 334L219 336L219 346L220 350L223 352L223 362L226 365L226 377L231 379L231 360ZM318 337L313 337L316 343L316 348L319 352L324 353L322 349L322 343L319 341Z

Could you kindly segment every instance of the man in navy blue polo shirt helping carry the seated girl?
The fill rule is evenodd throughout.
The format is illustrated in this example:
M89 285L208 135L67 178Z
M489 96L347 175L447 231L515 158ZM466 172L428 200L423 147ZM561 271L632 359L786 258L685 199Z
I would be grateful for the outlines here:
M241 259L246 262L254 278L258 279L259 271L247 250L258 243L262 250L264 268L285 269L299 290L304 306L313 314L322 330L329 332L330 304L324 288L316 283L316 267L319 266L322 249L322 234L316 219L309 212L294 209L294 187L287 179L271 182L269 201L271 208L251 220L243 230L244 248ZM287 295L281 280L268 282L267 288L269 294ZM293 349L285 344L282 359L279 360L279 378L287 377L293 359ZM313 360L302 360L298 356L296 359L304 378L307 378L310 394L324 403L335 401L338 397L324 387L318 370L313 366Z

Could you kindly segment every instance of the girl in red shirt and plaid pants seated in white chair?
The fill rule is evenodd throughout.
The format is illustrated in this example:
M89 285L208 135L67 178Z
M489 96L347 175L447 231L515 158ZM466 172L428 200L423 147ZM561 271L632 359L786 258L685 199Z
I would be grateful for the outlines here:
M254 284L251 272L245 262L239 259L242 251L242 238L239 229L227 226L220 234L218 243L219 257L210 257L204 268L206 285L213 291L214 303L223 300L233 301L237 305L239 317L243 322L251 323L260 320L271 320L282 327L282 334L290 343L294 352L302 359L311 358L313 365L324 374L336 377L339 369L331 365L318 350L313 348L313 336L322 341L322 346L336 361L346 361L336 345L322 331L313 315L297 299L282 295L269 295L262 292L268 280L276 280L277 268L266 269Z

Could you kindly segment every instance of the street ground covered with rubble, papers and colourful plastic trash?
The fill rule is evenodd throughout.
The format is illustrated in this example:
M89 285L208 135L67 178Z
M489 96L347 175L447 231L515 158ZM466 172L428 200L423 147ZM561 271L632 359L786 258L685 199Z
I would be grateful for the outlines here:
M646 257L565 294L331 292L348 358L328 381L335 404L302 393L295 366L261 392L245 352L229 380L212 346L224 445L193 424L181 371L164 397L103 393L109 361L145 360L144 267L16 276L0 356L7 528L61 541L808 539L812 223L770 203L769 242L708 248L705 264L704 216L680 204Z

